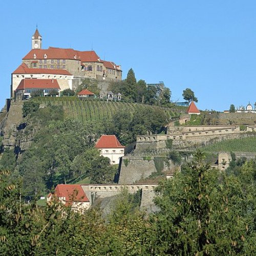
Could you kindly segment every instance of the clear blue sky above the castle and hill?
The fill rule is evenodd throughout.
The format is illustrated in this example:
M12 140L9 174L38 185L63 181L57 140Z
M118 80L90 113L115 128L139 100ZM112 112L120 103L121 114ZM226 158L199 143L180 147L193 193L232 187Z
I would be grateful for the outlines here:
M249 0L3 1L0 108L11 73L31 49L93 50L133 68L137 80L164 81L172 100L190 88L200 109L223 111L256 101L256 2Z

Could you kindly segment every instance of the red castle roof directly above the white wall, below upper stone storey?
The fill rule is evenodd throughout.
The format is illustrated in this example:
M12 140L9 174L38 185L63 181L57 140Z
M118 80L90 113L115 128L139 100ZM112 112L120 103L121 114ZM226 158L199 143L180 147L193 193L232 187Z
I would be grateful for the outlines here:
M68 70L65 69L30 69L25 63L19 65L19 67L13 71L12 74L53 74L53 75L69 75Z

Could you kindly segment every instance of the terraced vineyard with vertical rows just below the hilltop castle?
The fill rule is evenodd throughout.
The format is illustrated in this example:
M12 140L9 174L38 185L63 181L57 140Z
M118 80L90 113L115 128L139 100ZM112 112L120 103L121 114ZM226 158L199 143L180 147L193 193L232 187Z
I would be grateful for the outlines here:
M60 105L66 117L73 117L83 123L93 120L111 119L117 111L130 111L134 113L137 108L160 108L159 106L143 105L137 103L79 100L77 97L38 97L35 99L42 105ZM169 118L178 117L180 111L162 108Z

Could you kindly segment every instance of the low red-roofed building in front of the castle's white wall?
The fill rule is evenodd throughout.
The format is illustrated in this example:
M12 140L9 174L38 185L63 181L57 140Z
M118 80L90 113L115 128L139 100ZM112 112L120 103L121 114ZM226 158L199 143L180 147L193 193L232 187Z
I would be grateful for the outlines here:
M60 87L56 79L22 79L15 90L16 97L22 95L23 99L30 98L33 91L41 90L47 96L50 92L55 91L59 95Z

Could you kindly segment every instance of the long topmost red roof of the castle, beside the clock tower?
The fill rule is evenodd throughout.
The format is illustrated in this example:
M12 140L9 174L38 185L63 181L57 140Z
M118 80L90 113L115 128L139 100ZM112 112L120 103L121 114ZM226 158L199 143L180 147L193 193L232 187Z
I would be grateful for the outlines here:
M47 58L45 58L45 54ZM23 59L77 59L82 62L100 61L95 51L76 51L74 49L55 47L49 47L48 49L32 49Z

